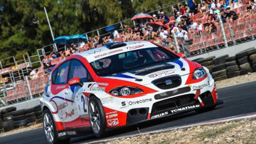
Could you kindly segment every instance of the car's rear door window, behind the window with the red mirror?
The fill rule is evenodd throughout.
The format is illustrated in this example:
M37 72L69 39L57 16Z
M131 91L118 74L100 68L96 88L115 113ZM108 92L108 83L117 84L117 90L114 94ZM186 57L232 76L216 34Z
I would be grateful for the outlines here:
M69 64L70 64L70 61L67 61L63 63L60 67L58 67L58 73L57 73L55 84L67 84Z

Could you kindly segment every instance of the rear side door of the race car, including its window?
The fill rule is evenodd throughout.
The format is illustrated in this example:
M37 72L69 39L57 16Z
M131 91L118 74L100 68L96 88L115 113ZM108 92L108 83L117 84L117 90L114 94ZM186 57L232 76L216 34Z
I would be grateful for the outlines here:
M74 101L66 99L66 97L71 94L71 90L67 84L70 62L71 61L64 62L54 70L52 77L53 84L51 88L54 97L50 100L54 107L56 107L56 113L59 115L65 128L70 117L74 116L74 111L68 111L67 109L67 106L73 104Z

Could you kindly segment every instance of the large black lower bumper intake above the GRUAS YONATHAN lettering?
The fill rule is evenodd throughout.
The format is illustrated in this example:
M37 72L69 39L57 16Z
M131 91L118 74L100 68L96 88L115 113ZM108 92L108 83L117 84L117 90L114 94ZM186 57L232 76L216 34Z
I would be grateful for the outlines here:
M176 106L179 107L182 105L190 104L191 102L195 102L194 94L181 95L181 96L165 99L165 100L154 103L152 106L151 113L165 110L165 109L176 108Z

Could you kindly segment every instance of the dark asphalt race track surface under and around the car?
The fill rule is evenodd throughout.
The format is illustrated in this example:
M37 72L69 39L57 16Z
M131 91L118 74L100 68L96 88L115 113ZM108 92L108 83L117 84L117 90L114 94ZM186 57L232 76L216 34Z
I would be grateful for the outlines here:
M115 131L110 131L109 136L106 138L138 134L138 129L140 132L147 132L256 112L256 81L220 88L218 89L218 96L219 99L224 101L224 104L218 105L212 111L205 113L190 112L175 117L169 117L161 120L158 119L130 127L116 129ZM70 143L87 143L95 140L96 138L93 135L88 135L79 138L72 138ZM0 142L4 144L47 143L42 128L0 137Z

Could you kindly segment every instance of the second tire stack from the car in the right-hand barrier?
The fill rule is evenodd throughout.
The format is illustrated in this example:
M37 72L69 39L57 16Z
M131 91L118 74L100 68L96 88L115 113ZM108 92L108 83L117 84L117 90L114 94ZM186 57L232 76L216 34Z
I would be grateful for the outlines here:
M213 59L212 77L215 81L227 79L226 58L228 55L219 56Z

